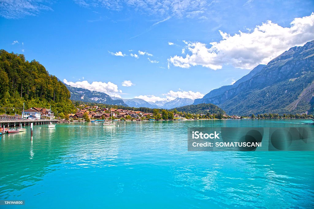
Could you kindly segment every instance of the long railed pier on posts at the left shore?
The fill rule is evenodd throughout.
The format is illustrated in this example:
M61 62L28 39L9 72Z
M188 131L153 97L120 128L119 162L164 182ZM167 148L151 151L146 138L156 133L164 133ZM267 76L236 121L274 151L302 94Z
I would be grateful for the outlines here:
M29 126L30 123L33 123L35 126L36 125L44 125L44 124L49 124L49 121L51 123L58 123L59 120L57 119L40 119L40 120L27 120L27 119L0 119L0 128L5 126L6 128L8 127L19 127L21 126Z

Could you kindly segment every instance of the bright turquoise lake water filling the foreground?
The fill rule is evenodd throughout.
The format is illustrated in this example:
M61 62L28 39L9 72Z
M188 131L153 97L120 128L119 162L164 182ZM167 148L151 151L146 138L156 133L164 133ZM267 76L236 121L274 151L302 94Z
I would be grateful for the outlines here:
M188 152L188 127L308 120L34 126L0 140L0 208L314 208L314 152ZM42 127L42 128L39 128Z

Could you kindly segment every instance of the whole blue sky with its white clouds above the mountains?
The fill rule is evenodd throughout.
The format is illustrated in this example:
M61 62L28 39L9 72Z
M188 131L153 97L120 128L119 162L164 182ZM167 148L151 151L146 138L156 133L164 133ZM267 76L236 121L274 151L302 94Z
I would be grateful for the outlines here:
M5 0L0 48L111 96L194 99L314 39L313 11L311 0Z

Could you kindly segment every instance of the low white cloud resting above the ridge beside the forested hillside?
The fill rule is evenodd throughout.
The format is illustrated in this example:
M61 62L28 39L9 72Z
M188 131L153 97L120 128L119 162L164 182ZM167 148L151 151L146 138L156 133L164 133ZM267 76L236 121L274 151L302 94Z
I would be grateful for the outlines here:
M108 83L101 81L94 81L92 83L89 83L88 81L77 81L74 83L72 81L67 81L66 79L63 79L63 83L73 87L84 88L90 91L99 91L106 93L112 97L121 98L119 94L122 93L122 91L118 89L118 86L116 84L111 83L110 81Z

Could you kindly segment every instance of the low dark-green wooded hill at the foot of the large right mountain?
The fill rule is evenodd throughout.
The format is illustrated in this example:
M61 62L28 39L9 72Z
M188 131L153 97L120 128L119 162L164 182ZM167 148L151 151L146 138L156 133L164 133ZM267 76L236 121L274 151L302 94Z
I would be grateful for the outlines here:
M171 110L176 109L179 112L186 112L190 114L226 114L224 110L214 104L197 104L197 105L187 105L183 107L176 107Z

